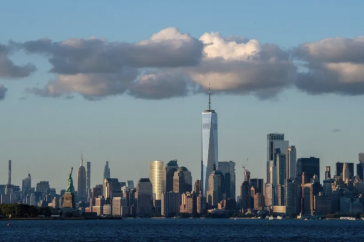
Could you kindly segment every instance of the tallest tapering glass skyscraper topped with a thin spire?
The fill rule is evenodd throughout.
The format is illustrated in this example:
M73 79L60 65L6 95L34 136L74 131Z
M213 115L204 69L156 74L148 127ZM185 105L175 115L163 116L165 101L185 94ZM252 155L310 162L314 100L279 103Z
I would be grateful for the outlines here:
M218 169L218 137L217 113L211 109L211 94L209 88L209 109L202 113L202 160L201 160L201 185L202 194L206 197L209 187L209 175L213 165Z

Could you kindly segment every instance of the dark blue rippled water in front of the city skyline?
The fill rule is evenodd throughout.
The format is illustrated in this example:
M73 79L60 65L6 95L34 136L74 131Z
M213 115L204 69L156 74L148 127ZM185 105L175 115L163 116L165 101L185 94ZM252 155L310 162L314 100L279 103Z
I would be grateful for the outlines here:
M0 221L0 241L364 241L364 221L123 219Z

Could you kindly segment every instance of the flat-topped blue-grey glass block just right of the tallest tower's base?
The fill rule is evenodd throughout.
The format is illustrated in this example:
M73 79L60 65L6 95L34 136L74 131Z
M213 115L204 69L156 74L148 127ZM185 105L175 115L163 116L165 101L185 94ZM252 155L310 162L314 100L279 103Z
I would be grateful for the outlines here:
M234 161L219 161L219 171L224 174L224 192L226 198L236 199L236 177Z

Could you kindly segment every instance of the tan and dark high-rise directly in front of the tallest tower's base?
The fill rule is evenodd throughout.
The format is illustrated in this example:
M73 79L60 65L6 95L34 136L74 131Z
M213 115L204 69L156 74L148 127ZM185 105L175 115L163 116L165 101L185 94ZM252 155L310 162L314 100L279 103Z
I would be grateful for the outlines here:
M216 207L218 203L223 199L223 181L224 174L221 171L217 171L215 165L209 176L209 187L206 194L206 202L212 207Z

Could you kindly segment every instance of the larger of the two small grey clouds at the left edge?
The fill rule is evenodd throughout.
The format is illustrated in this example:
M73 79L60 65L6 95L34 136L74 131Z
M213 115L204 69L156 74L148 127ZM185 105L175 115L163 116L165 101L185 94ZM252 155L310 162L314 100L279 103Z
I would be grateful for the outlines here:
M9 59L10 48L0 44L0 78L22 78L36 70L32 64L19 66Z

